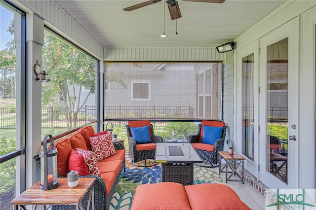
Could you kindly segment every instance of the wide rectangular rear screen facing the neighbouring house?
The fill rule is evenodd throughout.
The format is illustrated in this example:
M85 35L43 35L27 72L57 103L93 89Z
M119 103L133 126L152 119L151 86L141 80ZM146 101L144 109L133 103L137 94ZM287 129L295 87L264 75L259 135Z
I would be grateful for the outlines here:
M222 119L222 63L105 66L106 119Z

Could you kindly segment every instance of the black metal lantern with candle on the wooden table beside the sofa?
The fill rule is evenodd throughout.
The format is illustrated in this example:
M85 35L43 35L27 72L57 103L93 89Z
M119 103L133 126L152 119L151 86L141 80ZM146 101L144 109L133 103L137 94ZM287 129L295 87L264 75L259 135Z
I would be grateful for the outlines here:
M47 139L50 140L50 149L47 150ZM46 135L43 140L43 149L40 150L40 189L51 190L58 186L57 175L58 150L54 147L51 135Z

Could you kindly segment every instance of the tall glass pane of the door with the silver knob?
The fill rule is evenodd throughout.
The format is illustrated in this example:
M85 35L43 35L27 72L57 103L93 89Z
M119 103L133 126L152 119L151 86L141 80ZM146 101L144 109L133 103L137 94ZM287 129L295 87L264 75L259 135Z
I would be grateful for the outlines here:
M267 171L287 183L288 38L267 47Z

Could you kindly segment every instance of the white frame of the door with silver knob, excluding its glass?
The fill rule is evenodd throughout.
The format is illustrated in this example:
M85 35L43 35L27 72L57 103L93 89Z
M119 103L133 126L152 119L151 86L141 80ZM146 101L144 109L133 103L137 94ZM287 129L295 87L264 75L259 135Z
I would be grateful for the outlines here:
M259 133L259 180L268 188L298 188L299 179L299 141L301 141L301 126L299 124L299 33L298 33L298 18L285 23L276 28L274 31L262 36L259 39L260 45L260 89L259 95L259 116L260 116L260 133ZM267 46L276 43L279 40L288 37L288 136L295 135L297 140L288 140L288 184L285 184L271 173L267 172L267 129L266 129L266 80L267 80ZM296 129L292 129L291 125L296 125ZM270 164L270 163L269 163Z

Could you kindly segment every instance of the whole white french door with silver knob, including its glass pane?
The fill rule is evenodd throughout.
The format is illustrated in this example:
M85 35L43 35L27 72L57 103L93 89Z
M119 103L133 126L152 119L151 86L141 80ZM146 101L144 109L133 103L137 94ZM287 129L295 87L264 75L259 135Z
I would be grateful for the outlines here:
M297 20L259 40L259 179L268 188L298 186Z

